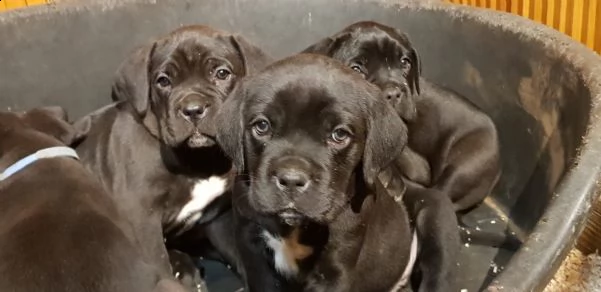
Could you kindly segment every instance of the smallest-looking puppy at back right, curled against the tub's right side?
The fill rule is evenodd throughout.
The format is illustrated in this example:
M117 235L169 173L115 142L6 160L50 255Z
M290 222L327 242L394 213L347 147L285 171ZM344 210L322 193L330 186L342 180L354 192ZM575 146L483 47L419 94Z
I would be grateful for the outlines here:
M407 35L364 21L303 52L340 60L380 87L409 128L408 147L396 162L409 181L447 194L457 211L492 191L501 173L494 123L462 97L420 78L421 62Z

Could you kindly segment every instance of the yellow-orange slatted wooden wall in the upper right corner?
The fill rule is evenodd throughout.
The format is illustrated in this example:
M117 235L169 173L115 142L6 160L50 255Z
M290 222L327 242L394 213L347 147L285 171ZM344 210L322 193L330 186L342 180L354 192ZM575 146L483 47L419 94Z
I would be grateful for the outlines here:
M446 0L518 14L601 53L601 0Z

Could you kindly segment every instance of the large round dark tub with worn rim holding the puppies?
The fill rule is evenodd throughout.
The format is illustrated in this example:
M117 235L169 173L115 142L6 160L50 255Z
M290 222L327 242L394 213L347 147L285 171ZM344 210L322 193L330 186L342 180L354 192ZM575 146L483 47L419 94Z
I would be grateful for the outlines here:
M468 291L540 291L582 229L599 173L600 58L568 37L504 13L437 1L65 1L0 14L0 109L109 103L127 53L180 25L239 32L275 56L358 20L408 32L423 74L495 121L503 176L465 224L515 236L516 251L466 245Z

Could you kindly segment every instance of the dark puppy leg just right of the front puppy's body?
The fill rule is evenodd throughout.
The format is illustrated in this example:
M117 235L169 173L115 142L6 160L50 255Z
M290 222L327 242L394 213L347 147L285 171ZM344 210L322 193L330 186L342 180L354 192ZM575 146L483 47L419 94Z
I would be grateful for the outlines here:
M460 250L459 228L448 196L408 184L403 197L414 221L420 251L419 292L457 291L455 277Z

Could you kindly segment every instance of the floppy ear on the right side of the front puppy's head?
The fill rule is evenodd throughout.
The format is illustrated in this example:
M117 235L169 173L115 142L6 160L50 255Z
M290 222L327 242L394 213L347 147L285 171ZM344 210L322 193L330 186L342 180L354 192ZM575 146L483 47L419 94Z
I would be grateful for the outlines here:
M373 102L368 114L363 153L363 175L373 187L380 172L398 157L407 144L407 125L384 100Z

